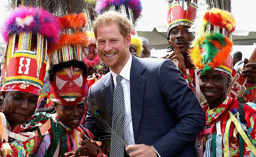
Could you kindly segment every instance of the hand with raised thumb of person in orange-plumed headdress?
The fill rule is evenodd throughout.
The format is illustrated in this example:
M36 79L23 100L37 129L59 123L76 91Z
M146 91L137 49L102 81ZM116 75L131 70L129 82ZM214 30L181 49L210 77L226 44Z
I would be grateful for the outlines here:
M65 153L65 157L80 157L80 156L90 156L90 157L96 157L98 154L98 148L95 146L87 137L85 137L85 132L81 131L80 136L82 137L82 141L79 142L81 147L76 149L73 152L67 152Z

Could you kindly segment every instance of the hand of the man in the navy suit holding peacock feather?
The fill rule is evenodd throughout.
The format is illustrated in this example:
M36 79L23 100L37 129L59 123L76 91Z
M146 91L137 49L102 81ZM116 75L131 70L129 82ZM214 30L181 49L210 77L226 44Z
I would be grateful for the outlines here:
M130 157L157 157L153 146L147 146L144 144L131 144L126 147L126 152L134 150L129 153Z

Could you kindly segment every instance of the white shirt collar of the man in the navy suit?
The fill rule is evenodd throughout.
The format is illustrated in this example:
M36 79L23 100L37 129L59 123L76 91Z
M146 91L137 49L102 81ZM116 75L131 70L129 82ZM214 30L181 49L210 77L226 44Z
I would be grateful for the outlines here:
M130 55L126 65L123 67L123 69L121 70L121 72L119 73L119 75L121 75L123 78L125 78L126 80L130 81L130 68L132 66L132 55ZM116 73L114 73L111 69L110 69L110 73L113 76L113 81L114 84L117 84L117 75Z

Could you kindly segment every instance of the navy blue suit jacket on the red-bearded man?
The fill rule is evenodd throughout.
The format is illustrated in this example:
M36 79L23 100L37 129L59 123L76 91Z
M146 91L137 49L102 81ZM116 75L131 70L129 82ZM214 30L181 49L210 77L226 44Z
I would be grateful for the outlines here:
M107 73L91 86L88 99L99 100L100 95L106 94L112 109L113 92L113 78ZM161 157L196 156L192 139L203 129L205 118L173 61L133 56L130 101L136 144L153 145ZM102 137L90 111L85 127L96 138Z

